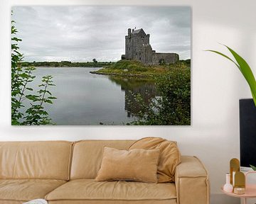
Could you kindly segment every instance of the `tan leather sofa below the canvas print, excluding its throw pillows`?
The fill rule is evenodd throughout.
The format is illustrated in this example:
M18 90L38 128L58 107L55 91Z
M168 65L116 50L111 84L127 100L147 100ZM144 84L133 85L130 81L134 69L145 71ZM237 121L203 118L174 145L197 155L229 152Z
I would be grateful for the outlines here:
M132 140L0 142L0 204L44 198L50 204L208 204L208 173L183 156L175 183L94 181L104 146Z

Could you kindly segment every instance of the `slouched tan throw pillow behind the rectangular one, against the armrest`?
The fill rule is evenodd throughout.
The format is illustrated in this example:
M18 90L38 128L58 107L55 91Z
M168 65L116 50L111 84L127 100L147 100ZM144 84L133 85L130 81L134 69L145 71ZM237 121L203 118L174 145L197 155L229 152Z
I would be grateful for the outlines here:
M173 182L175 180L176 166L181 163L181 154L176 142L160 137L145 137L129 147L130 149L160 149L157 176L159 183Z

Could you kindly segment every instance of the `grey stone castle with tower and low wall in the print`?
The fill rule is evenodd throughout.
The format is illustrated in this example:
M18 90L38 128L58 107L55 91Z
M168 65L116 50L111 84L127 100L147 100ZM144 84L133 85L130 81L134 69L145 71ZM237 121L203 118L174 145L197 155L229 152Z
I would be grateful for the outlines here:
M146 34L142 28L138 30L129 28L128 35L125 35L125 55L122 55L122 60L136 60L147 65L174 64L178 62L178 54L152 50L149 34Z

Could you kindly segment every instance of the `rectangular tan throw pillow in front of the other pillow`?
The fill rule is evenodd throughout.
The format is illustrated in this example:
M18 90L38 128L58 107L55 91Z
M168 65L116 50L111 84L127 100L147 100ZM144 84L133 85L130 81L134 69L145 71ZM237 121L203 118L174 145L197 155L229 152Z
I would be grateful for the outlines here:
M104 147L95 181L142 181L157 183L159 149L119 150Z

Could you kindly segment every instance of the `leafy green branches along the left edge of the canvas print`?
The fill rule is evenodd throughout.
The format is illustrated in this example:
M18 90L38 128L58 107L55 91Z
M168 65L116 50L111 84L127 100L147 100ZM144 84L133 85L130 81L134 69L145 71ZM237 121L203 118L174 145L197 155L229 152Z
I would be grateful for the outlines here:
M48 90L53 84L51 76L42 78L40 88L33 94L33 89L28 85L36 78L33 76L35 67L23 67L21 62L23 54L19 51L18 42L20 38L16 37L18 32L11 21L11 125L48 125L51 119L44 110L45 103L53 103L54 96ZM29 101L29 108L26 108L23 101Z

